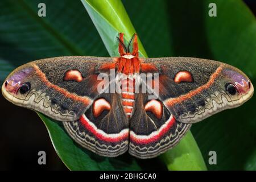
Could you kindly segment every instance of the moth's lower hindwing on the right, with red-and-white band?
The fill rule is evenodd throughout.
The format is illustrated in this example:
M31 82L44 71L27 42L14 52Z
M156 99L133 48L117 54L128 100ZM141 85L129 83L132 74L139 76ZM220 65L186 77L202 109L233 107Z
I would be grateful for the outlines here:
M160 104L161 115L147 111L145 105ZM154 103L155 102L155 103ZM147 94L137 94L133 116L130 119L129 153L141 159L154 158L176 146L191 124L176 121L158 100L148 100Z

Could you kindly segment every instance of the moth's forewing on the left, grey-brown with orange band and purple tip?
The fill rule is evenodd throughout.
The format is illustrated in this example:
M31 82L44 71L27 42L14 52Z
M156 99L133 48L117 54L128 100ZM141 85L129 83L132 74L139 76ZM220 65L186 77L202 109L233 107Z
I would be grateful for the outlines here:
M102 80L97 76L101 65L112 61L107 57L86 56L32 61L7 77L2 93L15 105L39 111L59 121L76 121L98 94L97 85ZM30 90L24 93L18 86L23 83L30 86Z

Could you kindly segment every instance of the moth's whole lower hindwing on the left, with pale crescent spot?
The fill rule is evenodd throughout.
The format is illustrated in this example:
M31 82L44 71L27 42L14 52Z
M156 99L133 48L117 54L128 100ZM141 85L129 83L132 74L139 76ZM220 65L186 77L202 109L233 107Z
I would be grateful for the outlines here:
M96 154L114 157L128 150L129 122L119 94L100 94L94 103L103 102L102 100L109 104L110 108L102 110L100 115L95 114L95 109L100 109L104 105L93 104L80 119L63 122L63 125L68 134L81 146Z

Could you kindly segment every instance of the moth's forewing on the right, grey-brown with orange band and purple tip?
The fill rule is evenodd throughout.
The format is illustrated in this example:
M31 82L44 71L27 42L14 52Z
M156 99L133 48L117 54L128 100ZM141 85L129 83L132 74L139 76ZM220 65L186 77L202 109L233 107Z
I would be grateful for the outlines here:
M191 57L145 59L159 72L159 99L184 123L195 123L224 109L240 106L253 85L239 69Z

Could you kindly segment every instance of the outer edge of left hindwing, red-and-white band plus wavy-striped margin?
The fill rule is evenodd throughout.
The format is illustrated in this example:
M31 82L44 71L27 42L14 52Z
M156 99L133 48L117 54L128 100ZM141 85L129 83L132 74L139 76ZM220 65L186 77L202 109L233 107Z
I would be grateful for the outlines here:
M79 120L63 122L63 125L77 143L96 154L114 157L128 150L129 129L123 129L117 134L107 134L90 122L85 114Z

